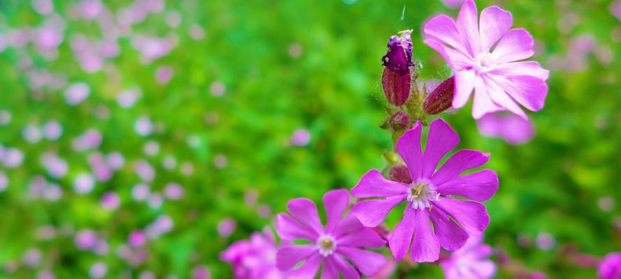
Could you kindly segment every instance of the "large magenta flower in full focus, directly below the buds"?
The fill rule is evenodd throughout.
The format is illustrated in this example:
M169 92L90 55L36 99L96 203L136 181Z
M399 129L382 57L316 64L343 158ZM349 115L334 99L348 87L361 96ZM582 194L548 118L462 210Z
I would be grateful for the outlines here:
M483 233L490 223L490 216L480 202L496 193L498 177L490 169L459 176L488 161L489 153L474 150L456 152L436 170L446 153L459 144L459 136L446 122L437 119L431 123L423 152L421 133L421 123L417 121L414 128L397 142L397 149L407 165L409 180L390 181L384 179L377 169L370 170L351 190L351 195L382 199L358 202L351 212L366 227L376 227L397 204L407 202L402 220L388 239L390 251L397 260L410 250L410 257L415 262L434 262L439 257L440 247L454 251L464 245L468 234ZM455 199L451 195L472 201Z

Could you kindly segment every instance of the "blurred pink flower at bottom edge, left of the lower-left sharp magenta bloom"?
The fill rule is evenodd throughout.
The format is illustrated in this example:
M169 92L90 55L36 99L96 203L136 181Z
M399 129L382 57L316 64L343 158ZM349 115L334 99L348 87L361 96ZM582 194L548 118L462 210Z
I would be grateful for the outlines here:
M270 229L254 232L250 239L236 241L220 254L220 259L233 265L239 279L285 278L276 268L277 244Z

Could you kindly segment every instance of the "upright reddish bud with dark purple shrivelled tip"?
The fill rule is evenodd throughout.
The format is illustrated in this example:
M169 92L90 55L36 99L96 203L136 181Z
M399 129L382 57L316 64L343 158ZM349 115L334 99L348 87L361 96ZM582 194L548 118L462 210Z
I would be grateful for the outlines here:
M393 105L403 105L409 97L410 66L412 62L412 40L410 31L388 40L388 52L381 57L381 65L386 67L381 75L381 85L386 99Z

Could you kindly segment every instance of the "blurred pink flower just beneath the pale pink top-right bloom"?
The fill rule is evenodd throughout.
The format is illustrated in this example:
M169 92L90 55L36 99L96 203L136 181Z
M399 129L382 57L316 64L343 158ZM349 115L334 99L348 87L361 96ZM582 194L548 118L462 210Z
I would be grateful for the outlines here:
M532 121L525 120L516 114L502 114L501 112L485 114L476 121L481 135L485 137L499 137L510 144L524 144L535 135Z

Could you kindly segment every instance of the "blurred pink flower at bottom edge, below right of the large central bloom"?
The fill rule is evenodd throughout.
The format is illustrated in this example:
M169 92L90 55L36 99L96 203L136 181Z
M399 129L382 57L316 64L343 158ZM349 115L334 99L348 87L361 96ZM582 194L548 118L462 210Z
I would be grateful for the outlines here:
M494 251L482 243L482 236L470 236L466 244L440 262L447 279L492 278L496 265L488 257Z

